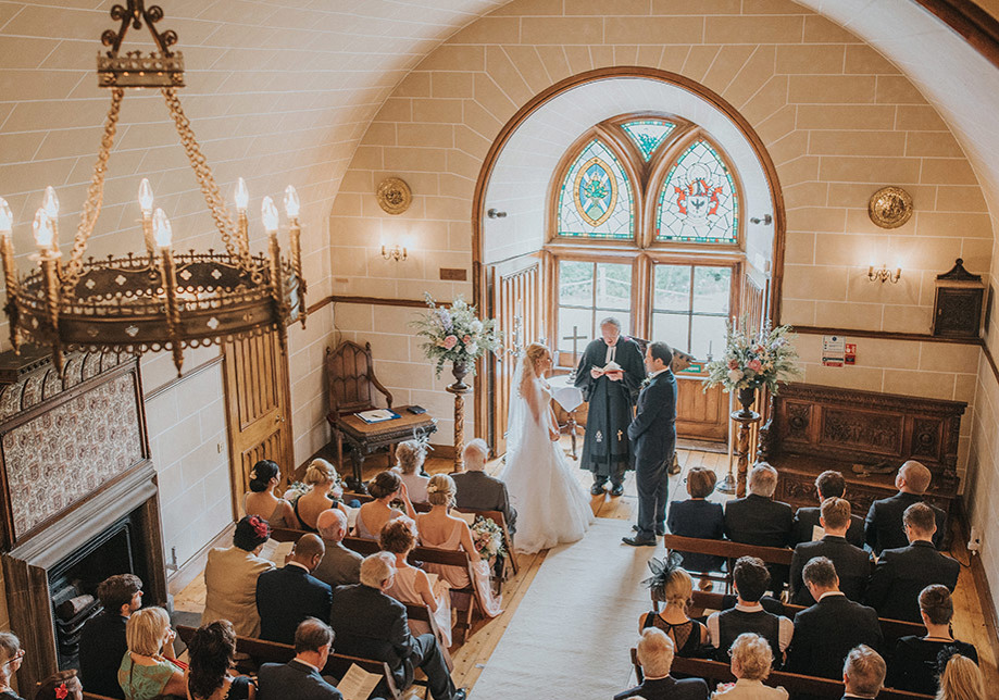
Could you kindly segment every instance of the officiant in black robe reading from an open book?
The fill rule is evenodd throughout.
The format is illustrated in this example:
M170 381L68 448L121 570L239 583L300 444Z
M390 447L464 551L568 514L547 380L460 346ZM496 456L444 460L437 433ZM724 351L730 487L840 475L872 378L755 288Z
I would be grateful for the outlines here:
M621 496L629 468L628 424L646 370L638 343L621 335L620 321L601 321L600 335L576 367L576 386L589 403L579 466L594 473L594 496L603 493L609 479L611 496Z

